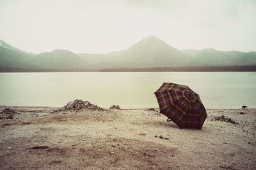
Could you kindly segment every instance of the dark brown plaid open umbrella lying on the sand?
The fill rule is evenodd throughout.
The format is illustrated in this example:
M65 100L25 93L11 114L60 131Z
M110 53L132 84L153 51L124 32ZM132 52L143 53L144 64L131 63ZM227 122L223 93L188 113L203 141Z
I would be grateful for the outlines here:
M199 95L188 86L164 82L154 94L160 112L179 128L202 128L207 114Z

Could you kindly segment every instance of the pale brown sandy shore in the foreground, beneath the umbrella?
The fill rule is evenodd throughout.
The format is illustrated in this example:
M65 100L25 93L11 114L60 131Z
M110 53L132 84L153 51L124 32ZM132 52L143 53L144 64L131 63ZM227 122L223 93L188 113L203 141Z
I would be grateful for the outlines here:
M207 110L191 130L145 109L10 108L0 169L256 169L256 109ZM239 124L214 120L222 114Z

